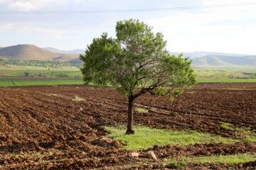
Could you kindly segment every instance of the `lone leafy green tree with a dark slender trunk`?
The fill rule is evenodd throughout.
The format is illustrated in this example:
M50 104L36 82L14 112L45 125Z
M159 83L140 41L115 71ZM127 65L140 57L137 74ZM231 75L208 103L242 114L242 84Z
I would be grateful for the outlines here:
M166 41L161 33L152 33L152 28L138 20L117 22L117 38L103 33L87 46L81 68L85 84L96 87L114 86L127 96L128 121L126 134L132 130L132 106L134 99L149 92L155 96L182 94L184 88L196 84L196 75L191 69L191 60L170 55L165 49ZM178 88L178 89L177 89Z

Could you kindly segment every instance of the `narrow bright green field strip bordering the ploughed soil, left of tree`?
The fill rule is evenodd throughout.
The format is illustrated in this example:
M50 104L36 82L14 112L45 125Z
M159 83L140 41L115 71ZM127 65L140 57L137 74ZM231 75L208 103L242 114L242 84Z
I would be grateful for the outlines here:
M83 84L82 80L1 80L0 86Z

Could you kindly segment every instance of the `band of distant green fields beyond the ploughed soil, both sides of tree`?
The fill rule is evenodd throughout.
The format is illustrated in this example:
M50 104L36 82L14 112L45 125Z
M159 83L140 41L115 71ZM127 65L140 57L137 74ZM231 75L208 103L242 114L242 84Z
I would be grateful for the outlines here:
M54 65L55 67L0 65L0 77L2 78L0 78L0 86L82 84L82 80L79 80L82 79L82 73L78 66ZM198 82L256 82L256 69L196 68L194 70Z

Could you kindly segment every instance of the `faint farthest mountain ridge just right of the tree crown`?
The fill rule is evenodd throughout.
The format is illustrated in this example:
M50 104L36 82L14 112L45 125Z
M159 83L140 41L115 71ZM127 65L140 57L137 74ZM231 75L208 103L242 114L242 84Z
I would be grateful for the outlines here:
M206 55L223 55L223 56L231 56L231 57L243 57L246 55L242 54L228 54L223 52L182 52L183 57L189 57L190 59L196 58L196 57L203 57ZM181 52L171 52L171 55L180 55Z

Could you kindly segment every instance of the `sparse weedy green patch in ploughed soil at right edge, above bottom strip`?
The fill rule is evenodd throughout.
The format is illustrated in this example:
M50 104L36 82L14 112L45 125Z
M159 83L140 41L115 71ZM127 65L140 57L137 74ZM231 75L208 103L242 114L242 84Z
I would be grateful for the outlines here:
M225 130L234 131L235 135L241 138L245 138L245 141L256 142L256 133L250 130L250 128L238 128L231 123L222 123L220 127L224 128Z

